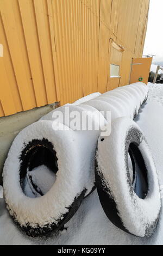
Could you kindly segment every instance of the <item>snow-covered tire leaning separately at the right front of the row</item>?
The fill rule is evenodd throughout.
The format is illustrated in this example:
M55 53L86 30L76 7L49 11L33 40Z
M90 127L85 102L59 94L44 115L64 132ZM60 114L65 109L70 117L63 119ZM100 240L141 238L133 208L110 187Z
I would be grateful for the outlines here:
M128 154L136 182L131 182ZM95 177L110 221L136 236L151 236L160 213L158 176L146 139L133 120L117 118L112 121L111 135L99 137Z

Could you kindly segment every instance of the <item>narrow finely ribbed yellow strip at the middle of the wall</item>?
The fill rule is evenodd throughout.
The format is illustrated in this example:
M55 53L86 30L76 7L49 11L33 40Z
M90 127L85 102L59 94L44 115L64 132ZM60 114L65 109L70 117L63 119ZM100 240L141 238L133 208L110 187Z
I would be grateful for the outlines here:
M97 92L99 18L83 4L83 93Z

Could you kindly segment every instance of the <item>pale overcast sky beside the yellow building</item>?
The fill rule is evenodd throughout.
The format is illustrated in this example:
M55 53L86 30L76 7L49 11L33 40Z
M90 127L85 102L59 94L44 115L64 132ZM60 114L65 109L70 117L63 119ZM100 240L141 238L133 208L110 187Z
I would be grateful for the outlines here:
M153 63L163 65L163 0L151 0L143 55L155 54Z

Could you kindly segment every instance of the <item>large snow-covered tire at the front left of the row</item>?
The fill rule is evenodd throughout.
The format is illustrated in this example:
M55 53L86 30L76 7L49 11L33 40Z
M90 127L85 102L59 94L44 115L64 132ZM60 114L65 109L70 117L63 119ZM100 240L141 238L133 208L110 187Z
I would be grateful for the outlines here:
M79 208L89 189L89 179L94 182L87 166L95 156L91 159L92 151L85 146L83 136L63 124L53 128L52 121L37 121L23 129L14 139L4 164L7 208L30 236L59 230ZM97 141L94 143L96 148ZM32 171L40 164L53 170L57 179L46 194L31 198L24 191L27 169Z

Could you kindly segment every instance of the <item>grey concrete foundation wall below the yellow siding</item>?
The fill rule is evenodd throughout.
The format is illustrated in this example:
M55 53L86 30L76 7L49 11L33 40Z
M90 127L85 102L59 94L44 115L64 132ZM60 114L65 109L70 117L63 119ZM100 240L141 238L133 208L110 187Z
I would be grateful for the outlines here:
M8 117L0 118L0 185L2 185L2 171L5 159L12 144L12 141L24 127L39 120L42 115L57 108L59 103L34 108L29 111L20 112Z

